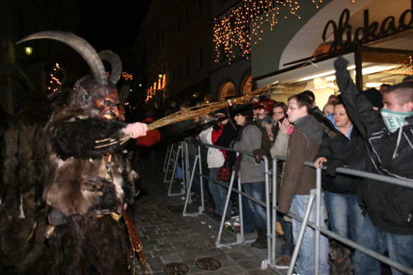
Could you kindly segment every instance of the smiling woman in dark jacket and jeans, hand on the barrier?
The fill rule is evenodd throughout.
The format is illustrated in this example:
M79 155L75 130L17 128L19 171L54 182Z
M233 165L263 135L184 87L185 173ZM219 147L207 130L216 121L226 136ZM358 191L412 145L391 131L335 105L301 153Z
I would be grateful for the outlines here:
M365 163L364 142L358 129L353 127L343 102L334 104L334 112L329 114L327 119L334 127L328 133L325 131L322 137L315 168L319 168L322 163L328 164L322 187L325 189L329 226L334 233L358 241L363 216L355 196L355 188L362 182L362 178L337 174L335 168L348 166L350 163L353 166L360 162Z

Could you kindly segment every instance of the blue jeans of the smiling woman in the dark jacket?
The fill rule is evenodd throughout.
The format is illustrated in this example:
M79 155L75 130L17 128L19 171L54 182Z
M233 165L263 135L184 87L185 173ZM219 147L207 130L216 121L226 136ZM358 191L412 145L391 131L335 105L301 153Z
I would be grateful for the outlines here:
M332 232L358 242L364 217L357 197L353 194L325 192L325 206L329 213L329 224ZM350 224L350 231L348 224Z

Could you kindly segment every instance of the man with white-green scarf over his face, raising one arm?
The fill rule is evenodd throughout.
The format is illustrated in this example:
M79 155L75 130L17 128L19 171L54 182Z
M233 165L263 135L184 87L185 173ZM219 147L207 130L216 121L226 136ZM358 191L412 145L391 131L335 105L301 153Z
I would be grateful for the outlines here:
M353 123L369 145L368 170L409 180L413 187L413 86L399 83L384 92L384 108L372 109L346 69L348 62L334 62L341 98ZM413 189L366 179L358 188L366 215L360 244L413 268ZM355 274L380 274L380 264L356 250ZM392 274L402 274L392 268Z

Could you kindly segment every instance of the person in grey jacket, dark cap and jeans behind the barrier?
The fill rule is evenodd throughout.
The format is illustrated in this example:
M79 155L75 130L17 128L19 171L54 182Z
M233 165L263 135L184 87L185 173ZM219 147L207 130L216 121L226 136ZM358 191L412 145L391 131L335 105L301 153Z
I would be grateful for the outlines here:
M241 133L237 141L231 142L231 147L237 151L249 152L261 148L262 131L258 128L256 121L253 121L253 112L250 105L246 105L235 111L235 121L242 126ZM239 164L238 164L239 163ZM240 154L234 168L239 171L244 192L255 199L265 202L265 177L264 162L257 163L254 156ZM254 213L254 220L257 230L257 239L251 246L255 248L267 248L267 229L265 208L248 200L249 208Z

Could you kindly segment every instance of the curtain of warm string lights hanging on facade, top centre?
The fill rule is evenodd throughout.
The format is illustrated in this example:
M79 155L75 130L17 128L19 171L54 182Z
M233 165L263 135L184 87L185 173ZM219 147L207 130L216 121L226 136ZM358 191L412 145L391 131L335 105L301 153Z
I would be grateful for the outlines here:
M311 0L317 8L322 0ZM355 0L350 0L352 3ZM214 43L216 62L225 57L230 63L237 55L239 48L245 58L251 53L251 42L261 40L263 25L269 22L270 30L278 24L280 8L285 7L288 13L284 19L294 15L301 19L299 0L243 0L219 18L214 18ZM251 37L252 36L252 37ZM255 38L255 39L253 39Z

